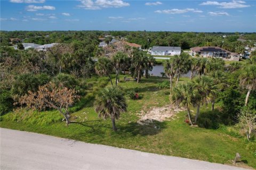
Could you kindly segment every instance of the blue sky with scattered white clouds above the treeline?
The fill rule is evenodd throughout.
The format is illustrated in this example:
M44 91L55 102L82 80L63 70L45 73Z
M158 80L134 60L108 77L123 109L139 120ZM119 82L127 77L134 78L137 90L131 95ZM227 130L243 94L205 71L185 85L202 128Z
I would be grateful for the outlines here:
M256 32L256 1L0 2L1 30Z

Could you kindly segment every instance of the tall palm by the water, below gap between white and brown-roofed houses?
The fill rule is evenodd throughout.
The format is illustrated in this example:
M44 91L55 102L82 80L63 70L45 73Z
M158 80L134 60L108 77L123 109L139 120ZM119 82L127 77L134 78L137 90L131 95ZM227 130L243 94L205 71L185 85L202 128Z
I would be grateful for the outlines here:
M173 64L174 64L175 74L177 75L177 82L176 82L176 86L177 86L178 81L180 79L180 74L186 74L191 69L191 61L189 60L189 54L181 53L181 55L179 56L175 55L173 59Z

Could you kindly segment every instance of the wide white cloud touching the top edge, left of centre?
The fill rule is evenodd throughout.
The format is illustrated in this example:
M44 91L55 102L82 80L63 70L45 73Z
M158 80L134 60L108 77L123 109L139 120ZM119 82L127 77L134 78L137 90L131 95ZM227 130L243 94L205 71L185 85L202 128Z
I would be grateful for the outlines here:
M101 8L108 7L124 7L130 6L129 3L123 2L122 0L82 0L81 5L78 5L80 8L86 10L100 10Z

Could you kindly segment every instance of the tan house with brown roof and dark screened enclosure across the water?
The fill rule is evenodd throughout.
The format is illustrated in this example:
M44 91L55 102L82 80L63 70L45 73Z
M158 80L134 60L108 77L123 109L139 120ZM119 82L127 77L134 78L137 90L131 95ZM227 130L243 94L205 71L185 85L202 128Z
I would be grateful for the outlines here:
M190 48L191 56L202 56L202 57L228 57L230 52L220 47L193 47Z

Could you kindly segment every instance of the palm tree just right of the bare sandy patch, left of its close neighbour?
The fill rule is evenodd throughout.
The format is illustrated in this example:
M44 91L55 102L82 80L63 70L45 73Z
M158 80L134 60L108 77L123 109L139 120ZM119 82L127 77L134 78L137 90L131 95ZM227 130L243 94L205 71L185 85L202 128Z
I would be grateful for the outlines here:
M191 82L178 84L172 91L172 102L179 106L183 106L187 109L189 123L193 125L191 121L190 107L194 105L194 100L197 97L197 91L194 89L194 84Z

